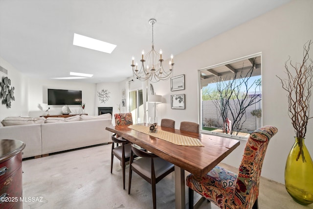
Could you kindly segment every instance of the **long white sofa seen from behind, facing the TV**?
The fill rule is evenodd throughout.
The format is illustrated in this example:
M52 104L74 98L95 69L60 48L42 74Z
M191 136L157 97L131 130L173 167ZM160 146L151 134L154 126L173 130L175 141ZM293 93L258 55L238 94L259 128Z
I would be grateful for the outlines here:
M17 139L26 144L23 158L41 157L42 155L80 147L111 142L111 135L106 130L112 125L105 116L81 116L79 121L61 120L40 124L10 125L0 127L0 139ZM109 116L107 116L109 117ZM100 118L100 119L99 119ZM2 121L3 123L3 121Z

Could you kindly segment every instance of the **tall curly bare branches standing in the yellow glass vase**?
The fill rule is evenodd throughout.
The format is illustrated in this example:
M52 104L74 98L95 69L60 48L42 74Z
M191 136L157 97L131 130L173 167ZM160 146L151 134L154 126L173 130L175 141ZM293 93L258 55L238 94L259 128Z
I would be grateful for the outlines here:
M288 115L297 138L305 138L310 117L310 100L313 90L313 61L309 58L312 40L303 46L302 63L292 64L291 59L285 62L287 78L280 79L282 87L287 91ZM291 70L288 67L291 66Z

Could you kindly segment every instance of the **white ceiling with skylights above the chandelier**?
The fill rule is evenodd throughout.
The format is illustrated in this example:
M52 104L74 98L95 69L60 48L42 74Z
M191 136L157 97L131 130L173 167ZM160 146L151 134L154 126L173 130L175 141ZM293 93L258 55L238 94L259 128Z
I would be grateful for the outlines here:
M132 76L132 56L154 42L177 55L290 0L0 0L0 57L37 78L94 74L89 83ZM78 33L117 45L112 54L73 46Z

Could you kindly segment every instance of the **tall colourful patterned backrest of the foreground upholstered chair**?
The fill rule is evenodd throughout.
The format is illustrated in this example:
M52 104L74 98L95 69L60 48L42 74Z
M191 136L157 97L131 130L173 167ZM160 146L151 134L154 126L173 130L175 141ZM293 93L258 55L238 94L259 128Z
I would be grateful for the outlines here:
M234 202L240 209L251 209L259 195L259 183L269 139L277 128L264 126L252 132L239 166Z

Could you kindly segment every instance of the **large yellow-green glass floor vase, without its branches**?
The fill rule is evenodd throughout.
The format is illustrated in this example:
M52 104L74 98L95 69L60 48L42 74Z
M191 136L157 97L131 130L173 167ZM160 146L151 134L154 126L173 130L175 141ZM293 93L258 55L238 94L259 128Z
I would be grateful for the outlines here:
M313 203L313 162L304 138L295 137L285 167L285 186L297 203Z

